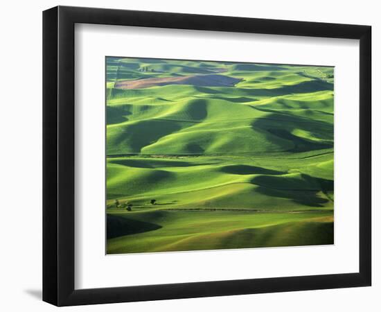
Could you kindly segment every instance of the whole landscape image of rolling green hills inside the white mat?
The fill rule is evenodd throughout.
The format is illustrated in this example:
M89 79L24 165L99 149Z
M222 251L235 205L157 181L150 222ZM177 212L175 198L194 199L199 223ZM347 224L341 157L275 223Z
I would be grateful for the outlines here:
M333 244L333 67L106 69L107 254Z

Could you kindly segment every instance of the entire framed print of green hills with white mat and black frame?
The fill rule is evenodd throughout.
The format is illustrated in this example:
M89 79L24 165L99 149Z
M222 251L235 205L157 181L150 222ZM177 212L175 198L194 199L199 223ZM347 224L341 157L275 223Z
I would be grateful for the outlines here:
M371 285L371 27L44 11L43 299Z

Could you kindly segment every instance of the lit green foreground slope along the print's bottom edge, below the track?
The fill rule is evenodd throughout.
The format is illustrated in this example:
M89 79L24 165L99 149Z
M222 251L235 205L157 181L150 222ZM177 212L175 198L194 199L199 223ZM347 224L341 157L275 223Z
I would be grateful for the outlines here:
M118 216L121 222L113 223ZM124 236L123 229L139 223L145 231ZM108 225L120 235L109 239L109 253L252 248L331 243L329 212L248 213L246 211L148 210L109 214ZM152 227L159 225L159 228ZM301 235L302 233L302 235Z

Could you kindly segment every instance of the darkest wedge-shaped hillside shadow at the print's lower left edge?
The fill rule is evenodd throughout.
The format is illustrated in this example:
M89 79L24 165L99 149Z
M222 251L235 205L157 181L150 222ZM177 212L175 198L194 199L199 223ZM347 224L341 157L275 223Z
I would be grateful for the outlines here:
M161 229L161 225L107 214L107 239Z

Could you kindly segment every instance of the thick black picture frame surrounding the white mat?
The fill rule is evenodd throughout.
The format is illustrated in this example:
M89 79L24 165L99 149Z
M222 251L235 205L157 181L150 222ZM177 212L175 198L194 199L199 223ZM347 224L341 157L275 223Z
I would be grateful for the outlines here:
M74 25L360 40L359 272L74 288ZM371 286L371 26L58 6L43 12L43 300L57 306Z

